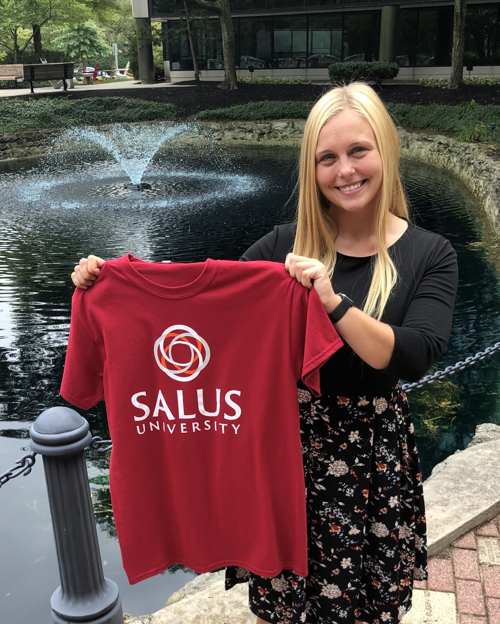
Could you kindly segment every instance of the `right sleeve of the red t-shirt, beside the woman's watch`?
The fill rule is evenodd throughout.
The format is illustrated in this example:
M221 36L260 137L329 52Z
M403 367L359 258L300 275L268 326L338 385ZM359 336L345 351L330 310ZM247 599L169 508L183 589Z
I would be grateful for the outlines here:
M321 396L319 369L342 346L342 339L319 295L297 282L291 310L292 367L314 396Z

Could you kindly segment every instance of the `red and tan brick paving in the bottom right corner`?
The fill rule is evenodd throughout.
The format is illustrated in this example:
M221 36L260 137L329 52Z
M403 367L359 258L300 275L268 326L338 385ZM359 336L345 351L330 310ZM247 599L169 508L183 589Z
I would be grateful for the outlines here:
M500 515L428 560L401 624L500 624Z

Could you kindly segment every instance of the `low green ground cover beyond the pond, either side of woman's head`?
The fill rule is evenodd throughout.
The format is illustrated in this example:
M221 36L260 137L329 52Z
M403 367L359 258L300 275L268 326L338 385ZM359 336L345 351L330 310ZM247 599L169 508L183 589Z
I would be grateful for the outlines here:
M193 120L265 121L269 119L306 119L314 102L250 102L227 109L203 110ZM500 106L482 106L474 100L458 106L447 104L394 104L387 110L395 124L410 129L432 129L448 132L464 141L490 139L489 123L498 125L493 140L500 137Z

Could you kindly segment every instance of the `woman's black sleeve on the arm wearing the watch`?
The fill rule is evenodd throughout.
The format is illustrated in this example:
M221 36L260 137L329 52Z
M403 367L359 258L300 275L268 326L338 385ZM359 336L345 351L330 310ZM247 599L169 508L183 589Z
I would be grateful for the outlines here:
M394 350L385 371L406 381L421 379L445 350L458 286L456 251L450 241L430 261L394 331Z

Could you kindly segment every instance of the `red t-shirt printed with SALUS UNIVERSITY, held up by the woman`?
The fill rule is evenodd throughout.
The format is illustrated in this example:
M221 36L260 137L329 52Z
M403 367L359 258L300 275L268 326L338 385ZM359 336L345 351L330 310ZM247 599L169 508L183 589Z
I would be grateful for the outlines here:
M281 263L108 260L72 300L60 392L105 399L130 583L173 563L307 575L297 380L342 346Z

